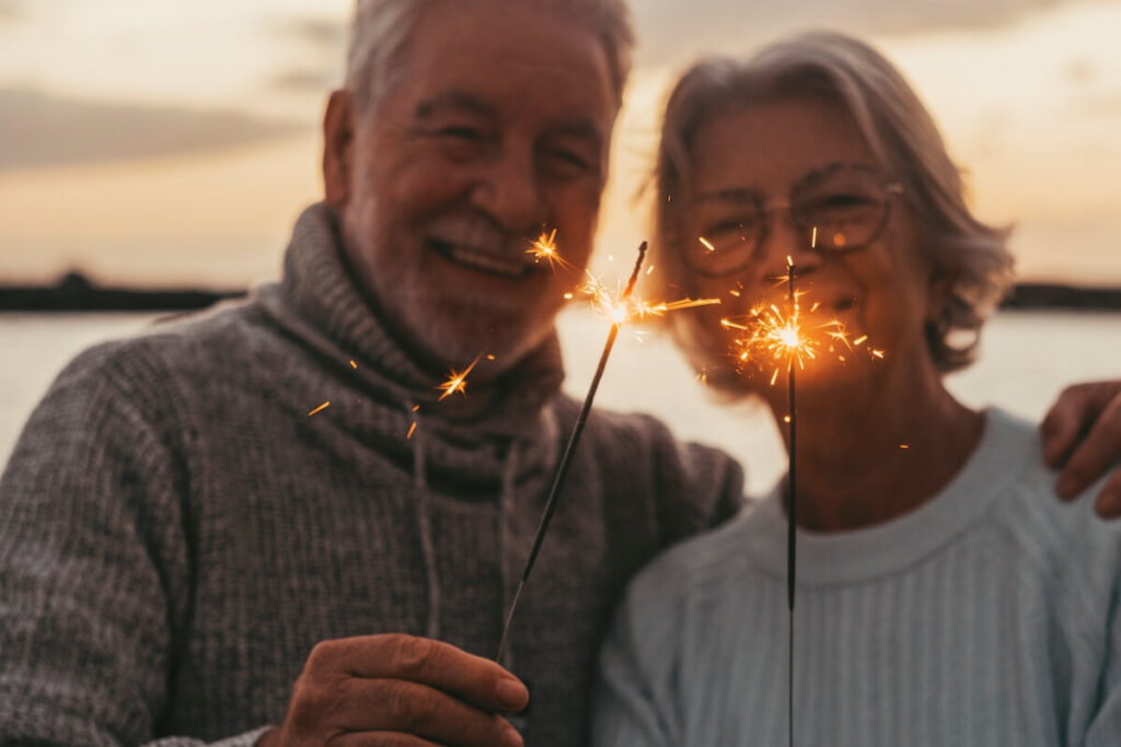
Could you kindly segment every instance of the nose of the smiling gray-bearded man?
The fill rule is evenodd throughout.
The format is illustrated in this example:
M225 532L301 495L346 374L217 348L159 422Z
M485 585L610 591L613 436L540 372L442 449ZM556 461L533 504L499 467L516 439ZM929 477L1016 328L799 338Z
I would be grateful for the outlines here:
M480 168L472 203L509 231L540 230L545 204L532 152L507 147Z

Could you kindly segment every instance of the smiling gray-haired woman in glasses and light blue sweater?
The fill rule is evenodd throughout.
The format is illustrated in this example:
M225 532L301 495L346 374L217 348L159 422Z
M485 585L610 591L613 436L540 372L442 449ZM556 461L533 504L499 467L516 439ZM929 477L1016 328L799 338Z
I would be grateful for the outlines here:
M834 325L797 371L796 744L1118 745L1121 529L1050 497L1032 426L943 384L1011 259L898 71L832 34L700 64L657 178L659 268L724 300L676 329L711 384L786 431L786 376L721 317L788 312L788 258L803 326ZM596 744L787 744L785 486L632 583Z

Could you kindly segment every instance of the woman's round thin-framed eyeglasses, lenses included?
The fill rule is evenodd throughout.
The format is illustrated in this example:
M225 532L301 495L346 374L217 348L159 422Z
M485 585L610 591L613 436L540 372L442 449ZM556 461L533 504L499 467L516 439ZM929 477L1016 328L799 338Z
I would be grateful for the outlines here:
M768 214L789 209L806 248L853 252L879 239L891 213L891 197L902 193L864 164L831 164L810 171L790 188L789 199L765 202L749 189L704 195L689 204L688 225L700 232L685 241L685 264L695 273L723 278L761 256L770 233Z

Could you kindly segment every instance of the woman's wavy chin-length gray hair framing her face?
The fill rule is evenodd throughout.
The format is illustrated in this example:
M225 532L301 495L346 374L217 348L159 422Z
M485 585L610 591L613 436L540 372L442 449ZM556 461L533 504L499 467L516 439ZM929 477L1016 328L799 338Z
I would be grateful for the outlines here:
M985 225L965 204L962 177L942 136L904 76L868 45L835 32L813 32L772 44L745 62L712 58L691 67L666 105L654 178L656 260L663 283L691 289L680 260L676 199L688 178L689 152L700 124L729 108L797 94L828 96L856 123L872 153L904 186L916 218L919 251L935 281L947 287L938 319L926 329L935 365L942 372L976 357L979 333L1011 282L1010 228ZM742 382L719 358L717 333L700 319L678 315L674 332L694 365L711 370L710 383L741 393ZM965 337L964 342L958 342Z

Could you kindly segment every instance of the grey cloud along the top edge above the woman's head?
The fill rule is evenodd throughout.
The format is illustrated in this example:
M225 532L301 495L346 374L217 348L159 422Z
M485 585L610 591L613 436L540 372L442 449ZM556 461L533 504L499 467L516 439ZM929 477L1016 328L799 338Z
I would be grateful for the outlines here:
M834 28L859 36L984 30L1087 0L638 0L640 64L680 64L704 53L742 53L781 34Z

